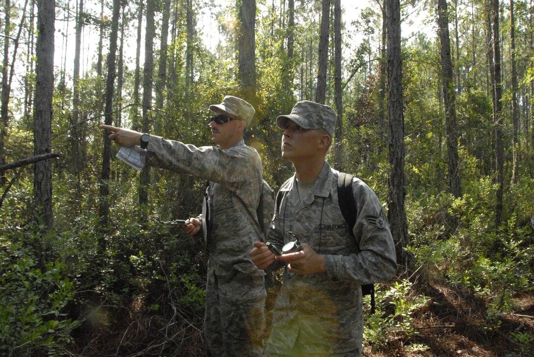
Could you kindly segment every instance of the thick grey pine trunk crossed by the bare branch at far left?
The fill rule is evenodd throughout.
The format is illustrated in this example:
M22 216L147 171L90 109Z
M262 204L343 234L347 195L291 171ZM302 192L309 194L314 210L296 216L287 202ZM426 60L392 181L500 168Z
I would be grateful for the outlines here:
M37 1L36 91L34 110L34 155L51 152L52 94L54 89L54 0ZM53 228L52 165L34 164L34 204L44 226Z

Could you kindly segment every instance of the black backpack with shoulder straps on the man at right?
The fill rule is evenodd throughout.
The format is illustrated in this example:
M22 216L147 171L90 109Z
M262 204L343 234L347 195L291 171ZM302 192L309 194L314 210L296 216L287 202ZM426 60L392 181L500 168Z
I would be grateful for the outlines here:
M339 203L339 208L343 218L349 225L349 233L354 239L356 239L354 233L352 232L352 228L354 228L354 225L356 224L356 216L358 213L356 209L356 202L354 201L354 194L352 194L353 177L354 176L352 176L350 173L339 173L339 177L337 178L337 201ZM280 192L278 192L276 195L276 212L278 212L283 198L284 195L281 195ZM362 287L362 296L371 295L371 313L374 314L374 284L360 286Z

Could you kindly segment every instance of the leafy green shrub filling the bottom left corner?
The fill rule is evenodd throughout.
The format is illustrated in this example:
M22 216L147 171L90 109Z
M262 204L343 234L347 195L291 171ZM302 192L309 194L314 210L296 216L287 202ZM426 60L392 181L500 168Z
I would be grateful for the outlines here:
M0 239L0 354L61 355L79 324L66 310L75 283L58 259L42 259L41 239L32 229Z

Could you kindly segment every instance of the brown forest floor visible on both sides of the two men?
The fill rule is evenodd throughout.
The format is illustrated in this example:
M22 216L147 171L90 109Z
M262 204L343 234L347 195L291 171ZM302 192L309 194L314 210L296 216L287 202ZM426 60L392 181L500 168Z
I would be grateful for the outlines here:
M388 336L388 343L378 352L364 346L364 357L534 356L531 340L534 292L515 296L512 312L490 321L488 305L481 298L437 284L414 288L430 298L427 307L413 316L417 333L411 337ZM271 289L268 308L275 297L276 289ZM69 354L80 357L205 355L202 316L180 311L183 309L179 307L173 309L170 319L136 310L135 307L126 309L122 316L115 316L116 323L78 334ZM490 328L496 324L497 328ZM523 343L514 334L524 336Z

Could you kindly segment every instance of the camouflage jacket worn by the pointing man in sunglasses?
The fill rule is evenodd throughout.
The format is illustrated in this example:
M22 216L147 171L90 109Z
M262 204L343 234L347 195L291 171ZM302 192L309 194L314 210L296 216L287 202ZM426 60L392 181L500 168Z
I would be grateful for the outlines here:
M257 241L255 224L261 194L262 162L243 139L226 150L196 147L179 141L150 137L145 163L210 181L210 237L208 252L215 274L230 278L233 269L248 275L263 275L252 263L249 251ZM243 203L236 197L241 197Z

